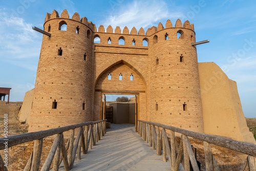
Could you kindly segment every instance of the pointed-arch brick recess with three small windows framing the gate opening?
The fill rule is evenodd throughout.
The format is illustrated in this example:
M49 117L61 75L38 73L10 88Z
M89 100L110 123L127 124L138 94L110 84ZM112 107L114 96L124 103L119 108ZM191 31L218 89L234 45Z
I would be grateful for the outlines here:
M102 72L95 83L94 120L102 119L104 94L136 95L136 122L146 117L146 85L138 71L125 62L117 62Z

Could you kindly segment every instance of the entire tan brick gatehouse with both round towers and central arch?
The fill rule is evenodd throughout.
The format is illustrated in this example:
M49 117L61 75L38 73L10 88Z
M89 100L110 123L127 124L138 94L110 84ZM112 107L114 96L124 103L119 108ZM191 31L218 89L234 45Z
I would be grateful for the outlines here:
M62 24L67 31L60 30ZM167 20L165 28L159 23L146 33L135 27L97 30L78 13L71 19L67 10L60 16L54 10L47 13L44 30L51 36L42 39L29 132L102 119L103 93L136 93L138 119L203 133L197 50L191 46L196 38L188 20L183 26L180 19L175 26Z

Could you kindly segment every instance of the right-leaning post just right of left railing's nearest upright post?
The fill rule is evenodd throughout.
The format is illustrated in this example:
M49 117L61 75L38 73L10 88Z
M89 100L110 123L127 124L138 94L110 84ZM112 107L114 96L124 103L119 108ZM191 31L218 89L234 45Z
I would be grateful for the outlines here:
M44 165L41 168L41 171L48 171L48 170L50 170L50 167L51 167L51 164L52 164L52 160L54 158L54 155L56 153L57 147L58 147L59 142L60 142L61 139L62 139L62 133L57 134L55 139L54 139L54 141L53 141L52 148L50 149L48 157L47 157Z

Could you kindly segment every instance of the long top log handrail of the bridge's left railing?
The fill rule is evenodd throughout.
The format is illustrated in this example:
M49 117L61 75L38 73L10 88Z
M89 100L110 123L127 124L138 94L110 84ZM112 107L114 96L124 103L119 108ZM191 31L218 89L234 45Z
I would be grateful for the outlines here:
M55 134L59 134L59 133L63 133L63 132L69 131L69 130L73 130L73 129L76 129L78 127L84 126L84 125L100 123L102 121L106 121L106 119L105 120L99 120L99 121L82 122L82 123L78 123L78 124L74 124L74 125L57 127L55 129L50 129L50 130L13 135L13 136L8 137L8 148L10 148L11 146L15 146L15 145L18 145L18 144L25 143L25 142L38 140L40 138L45 138L45 137L49 137L49 136L52 136L52 135L55 135ZM0 138L0 150L5 149L5 144L4 144L5 141L6 141L6 138Z

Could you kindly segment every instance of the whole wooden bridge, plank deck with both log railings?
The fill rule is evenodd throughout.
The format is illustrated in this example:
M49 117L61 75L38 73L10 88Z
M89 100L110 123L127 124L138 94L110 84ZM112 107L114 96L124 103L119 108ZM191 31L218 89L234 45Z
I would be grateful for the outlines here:
M65 145L63 132L67 131L70 138ZM247 155L241 170L256 170L255 144L142 120L138 120L137 133L129 124L115 125L106 133L106 120L100 120L10 136L8 148L34 141L34 151L24 170L39 170L43 139L53 135L56 137L40 170L200 170L190 137L204 143L206 170L220 170L211 144ZM4 142L1 138L0 150L5 149ZM7 171L4 165L0 156L0 169Z

